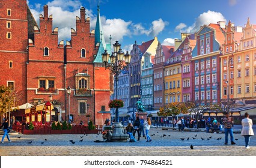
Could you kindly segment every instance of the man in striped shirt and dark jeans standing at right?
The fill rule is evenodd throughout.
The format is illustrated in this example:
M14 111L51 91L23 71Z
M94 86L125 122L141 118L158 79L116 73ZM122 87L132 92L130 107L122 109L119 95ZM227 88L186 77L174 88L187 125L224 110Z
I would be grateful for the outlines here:
M229 112L225 114L225 118L223 119L222 124L224 124L225 130L225 145L228 145L228 134L230 134L231 145L235 145L234 135L233 135L233 127L234 118L230 115Z

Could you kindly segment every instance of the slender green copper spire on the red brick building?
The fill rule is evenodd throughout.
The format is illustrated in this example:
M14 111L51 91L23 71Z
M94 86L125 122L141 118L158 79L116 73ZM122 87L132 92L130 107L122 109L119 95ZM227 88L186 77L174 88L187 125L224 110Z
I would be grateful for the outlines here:
M102 21L100 20L100 2L97 5L98 7L98 15L97 15L97 21L96 21L96 28L95 28L95 46L97 43L102 43L104 49L106 49L106 43L104 38L104 33L102 29Z

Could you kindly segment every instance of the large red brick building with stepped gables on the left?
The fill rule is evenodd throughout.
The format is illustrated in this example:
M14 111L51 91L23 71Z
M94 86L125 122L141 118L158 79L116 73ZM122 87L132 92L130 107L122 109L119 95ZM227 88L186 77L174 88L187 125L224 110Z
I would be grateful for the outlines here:
M53 16L48 14L47 5L40 14L39 26L26 0L0 0L0 6L0 31L6 35L0 39L0 56L4 59L0 62L4 71L0 85L13 85L23 93L19 105L36 105L49 101L52 95L52 120L67 120L70 113L73 122L87 124L86 115L90 114L94 124L102 125L106 117L110 118L109 71L102 62L94 61L102 50L102 42L95 43L95 35L101 32L90 31L85 8L74 18L76 29L71 29L71 40L64 45L63 40L58 43L58 28L52 27ZM70 112L68 86L72 89Z

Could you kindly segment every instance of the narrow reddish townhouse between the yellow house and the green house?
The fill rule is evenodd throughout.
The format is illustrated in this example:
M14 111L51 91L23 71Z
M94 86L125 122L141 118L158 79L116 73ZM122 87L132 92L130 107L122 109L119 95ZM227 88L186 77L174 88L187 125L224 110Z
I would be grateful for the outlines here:
M195 34L189 34L181 44L183 47L181 58L181 93L183 102L191 101L194 96L192 92L192 50L196 43Z

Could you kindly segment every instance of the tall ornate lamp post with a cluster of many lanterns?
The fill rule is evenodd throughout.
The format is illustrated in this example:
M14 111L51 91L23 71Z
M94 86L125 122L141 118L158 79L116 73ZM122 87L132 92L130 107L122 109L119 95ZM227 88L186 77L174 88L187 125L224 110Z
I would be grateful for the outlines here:
M124 52L121 49L121 44L118 43L118 41L115 41L114 46L114 52L112 52L112 55L109 55L107 50L105 50L104 53L102 53L102 59L105 64L105 68L110 70L112 74L115 76L115 94L117 99L117 82L118 82L118 76L121 73L121 70L128 70L128 65L130 63L131 56L129 55L129 52ZM110 59L110 64L109 64ZM112 133L111 140L127 140L127 134L124 134L121 127L123 127L119 121L119 112L118 107L115 109L115 122L114 122L115 128ZM118 137L119 136L119 137Z

